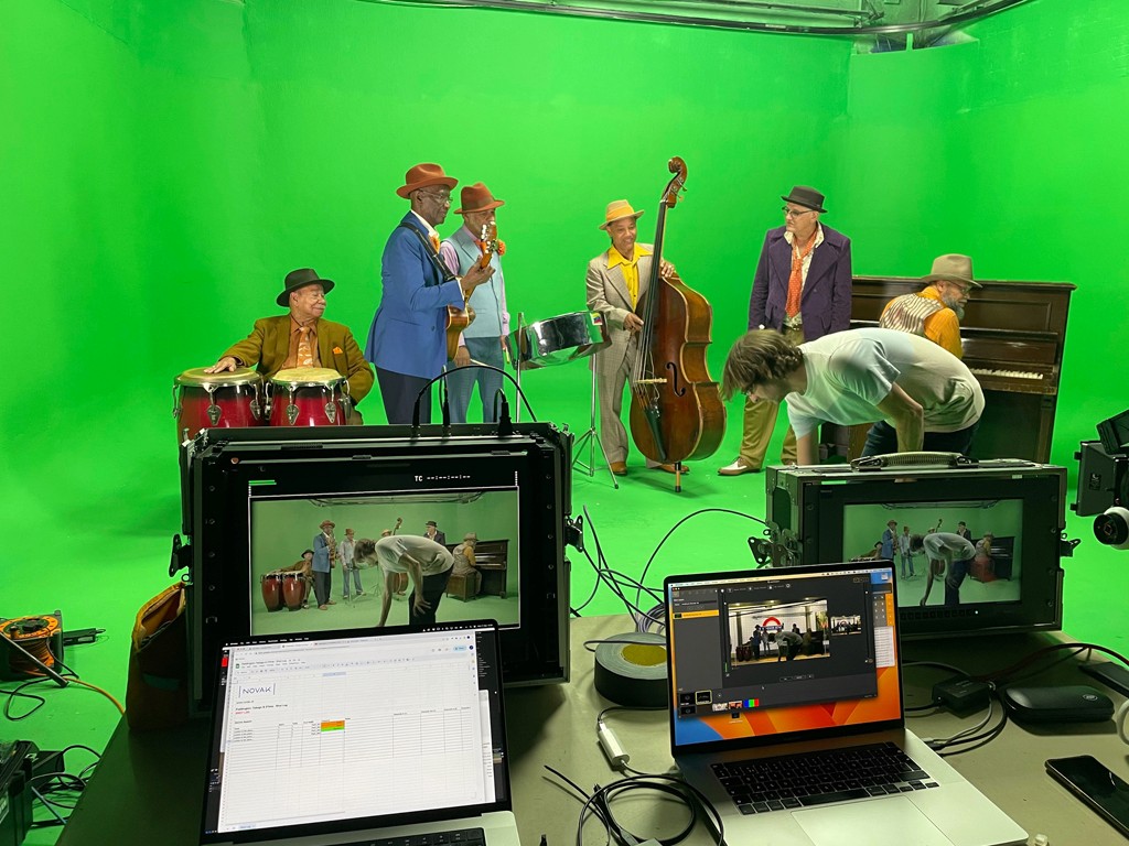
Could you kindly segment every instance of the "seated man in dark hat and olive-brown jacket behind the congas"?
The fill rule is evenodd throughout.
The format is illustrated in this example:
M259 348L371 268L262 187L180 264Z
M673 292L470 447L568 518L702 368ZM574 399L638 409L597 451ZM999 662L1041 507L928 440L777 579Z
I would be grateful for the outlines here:
M348 326L325 320L325 294L333 281L309 267L291 271L275 302L288 315L255 320L251 334L234 344L208 373L253 367L264 379L289 368L332 368L349 380L349 396L356 405L373 389L373 368L365 361ZM360 423L360 415L350 416Z

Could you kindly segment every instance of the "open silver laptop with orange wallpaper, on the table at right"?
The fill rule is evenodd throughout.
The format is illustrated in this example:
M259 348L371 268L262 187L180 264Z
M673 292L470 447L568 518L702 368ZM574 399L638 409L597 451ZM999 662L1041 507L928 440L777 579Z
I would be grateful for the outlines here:
M890 562L669 576L671 751L728 843L1027 836L905 729Z

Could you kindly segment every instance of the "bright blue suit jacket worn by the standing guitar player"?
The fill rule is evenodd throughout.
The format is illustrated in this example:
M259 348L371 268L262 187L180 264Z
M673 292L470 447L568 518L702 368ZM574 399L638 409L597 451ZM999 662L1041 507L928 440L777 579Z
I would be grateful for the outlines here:
M409 212L402 222L427 240L427 230L414 214ZM365 358L393 373L438 376L447 363L446 307L463 307L458 283L444 282L419 238L396 227L380 257L380 289Z

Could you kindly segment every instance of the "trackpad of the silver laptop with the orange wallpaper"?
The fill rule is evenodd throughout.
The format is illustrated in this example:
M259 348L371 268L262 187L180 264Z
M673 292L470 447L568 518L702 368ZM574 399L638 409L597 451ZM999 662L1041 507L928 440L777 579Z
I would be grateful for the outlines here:
M793 811L791 816L816 846L951 846L929 818L904 796L877 802L851 802L832 808Z

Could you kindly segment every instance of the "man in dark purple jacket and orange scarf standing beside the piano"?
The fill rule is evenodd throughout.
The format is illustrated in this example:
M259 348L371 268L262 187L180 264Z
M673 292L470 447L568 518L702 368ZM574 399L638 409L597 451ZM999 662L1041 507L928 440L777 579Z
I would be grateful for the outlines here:
M749 301L749 328L776 329L794 344L850 326L850 239L820 223L823 194L797 185L785 201L782 227L764 236ZM756 473L776 426L779 403L745 397L741 455L723 476ZM796 462L796 434L788 426L782 464Z

